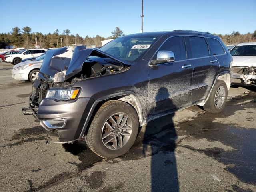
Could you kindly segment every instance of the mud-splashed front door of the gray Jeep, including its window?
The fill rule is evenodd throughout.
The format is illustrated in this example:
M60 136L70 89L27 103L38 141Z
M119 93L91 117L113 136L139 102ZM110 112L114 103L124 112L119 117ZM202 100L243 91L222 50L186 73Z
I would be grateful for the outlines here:
M158 51L163 50L174 52L175 61L150 66L149 116L168 113L191 103L193 66L186 60L184 37L169 38Z

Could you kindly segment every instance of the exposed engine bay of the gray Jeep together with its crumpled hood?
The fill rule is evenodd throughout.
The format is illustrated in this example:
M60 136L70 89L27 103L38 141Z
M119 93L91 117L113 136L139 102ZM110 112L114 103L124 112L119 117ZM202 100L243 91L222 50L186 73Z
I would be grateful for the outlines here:
M22 109L23 113L36 117L38 106L50 88L72 88L76 82L124 72L129 68L128 62L96 49L76 46L50 50L33 84L30 108Z

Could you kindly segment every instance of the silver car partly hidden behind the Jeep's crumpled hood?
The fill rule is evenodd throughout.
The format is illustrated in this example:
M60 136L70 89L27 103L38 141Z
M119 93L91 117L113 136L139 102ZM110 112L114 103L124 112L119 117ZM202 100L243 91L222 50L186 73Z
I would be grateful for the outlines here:
M32 61L28 60L14 65L12 68L12 78L17 80L30 80L30 82L34 82L38 77L44 56L45 54Z

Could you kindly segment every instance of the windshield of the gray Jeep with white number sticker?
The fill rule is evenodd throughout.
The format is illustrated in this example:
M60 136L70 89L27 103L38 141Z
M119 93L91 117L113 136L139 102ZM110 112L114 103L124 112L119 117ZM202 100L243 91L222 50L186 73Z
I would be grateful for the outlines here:
M120 37L110 41L100 50L128 62L134 62L141 58L152 44L156 37Z

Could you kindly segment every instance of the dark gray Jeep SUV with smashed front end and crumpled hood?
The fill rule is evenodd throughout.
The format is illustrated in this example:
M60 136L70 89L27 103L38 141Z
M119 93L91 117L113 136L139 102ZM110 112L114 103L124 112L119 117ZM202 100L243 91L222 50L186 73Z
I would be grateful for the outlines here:
M225 105L232 56L217 36L175 30L122 36L100 49L49 50L30 108L58 142L85 137L104 158L127 152L139 126L192 105Z

